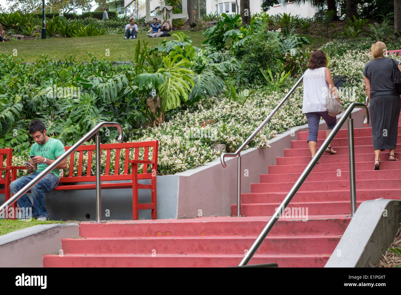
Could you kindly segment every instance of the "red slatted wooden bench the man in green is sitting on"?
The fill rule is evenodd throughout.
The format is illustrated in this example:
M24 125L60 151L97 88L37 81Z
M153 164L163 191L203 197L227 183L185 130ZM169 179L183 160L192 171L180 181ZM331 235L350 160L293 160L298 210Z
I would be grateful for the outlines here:
M65 146L68 151L71 146ZM142 149L142 151L141 151ZM157 203L156 203L156 174L157 174L157 157L159 142L158 140L146 142L123 142L112 144L101 144L100 151L105 151L105 165L101 169L100 176L101 188L132 188L132 219L138 220L138 210L151 209L152 219L157 219ZM115 150L114 164L111 165L111 151ZM132 151L133 150L133 151ZM120 159L124 151L123 159ZM130 157L130 152L133 157ZM139 155L141 154L141 159ZM149 160L150 154L152 159ZM75 159L78 157L78 165L75 165ZM84 167L84 157L87 157L87 164ZM143 157L143 158L142 158ZM93 158L93 159L92 159ZM133 158L133 159L132 159ZM120 161L124 161L124 169L120 171ZM130 171L130 164L131 171ZM138 165L143 165L143 169L138 171ZM103 163L101 161L103 167ZM96 183L82 184L82 182L95 182L95 144L81 145L73 154L67 158L68 173L60 175L59 185L54 190L71 190L71 189L94 189ZM25 167L16 167L17 169L25 169ZM112 169L112 173L110 173ZM85 171L86 170L86 171ZM93 172L92 172L93 171ZM120 173L121 172L121 173ZM104 173L104 174L103 174ZM15 173L16 175L16 173ZM15 177L16 179L16 177ZM150 179L151 184L138 183L139 179ZM14 180L14 178L12 178ZM122 181L121 183L110 183L109 181ZM138 203L138 189L151 189L151 203Z

